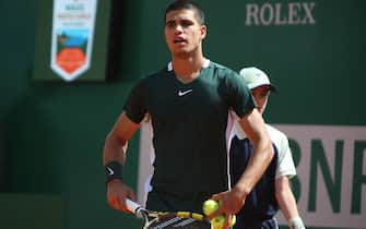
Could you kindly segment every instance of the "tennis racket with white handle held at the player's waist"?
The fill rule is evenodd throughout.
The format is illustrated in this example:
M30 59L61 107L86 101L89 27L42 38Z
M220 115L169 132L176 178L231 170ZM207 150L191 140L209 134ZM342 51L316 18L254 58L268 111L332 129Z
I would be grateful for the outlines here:
M143 208L140 204L126 200L128 210L143 219L142 229L200 229L211 228L209 219L202 214L190 212L154 212Z

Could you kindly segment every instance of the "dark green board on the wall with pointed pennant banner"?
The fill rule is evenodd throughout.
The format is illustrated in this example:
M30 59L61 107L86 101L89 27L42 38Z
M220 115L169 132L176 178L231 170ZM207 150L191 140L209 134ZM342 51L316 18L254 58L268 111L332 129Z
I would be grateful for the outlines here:
M105 81L113 73L119 24L110 0L38 0L33 77L38 81ZM117 21L118 20L118 21Z

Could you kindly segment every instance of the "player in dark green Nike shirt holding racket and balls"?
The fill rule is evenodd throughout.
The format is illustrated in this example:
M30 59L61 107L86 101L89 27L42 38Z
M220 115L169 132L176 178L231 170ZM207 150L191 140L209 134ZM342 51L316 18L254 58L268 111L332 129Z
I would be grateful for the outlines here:
M149 209L202 213L202 203L213 197L222 205L211 216L225 214L227 228L271 161L271 140L249 88L235 71L203 56L206 31L204 13L197 3L176 0L167 7L164 32L172 62L137 83L105 140L107 200L113 208L128 212L126 198L135 201L122 167L128 141L145 116L152 122L155 149ZM238 117L256 149L229 190L231 112Z

